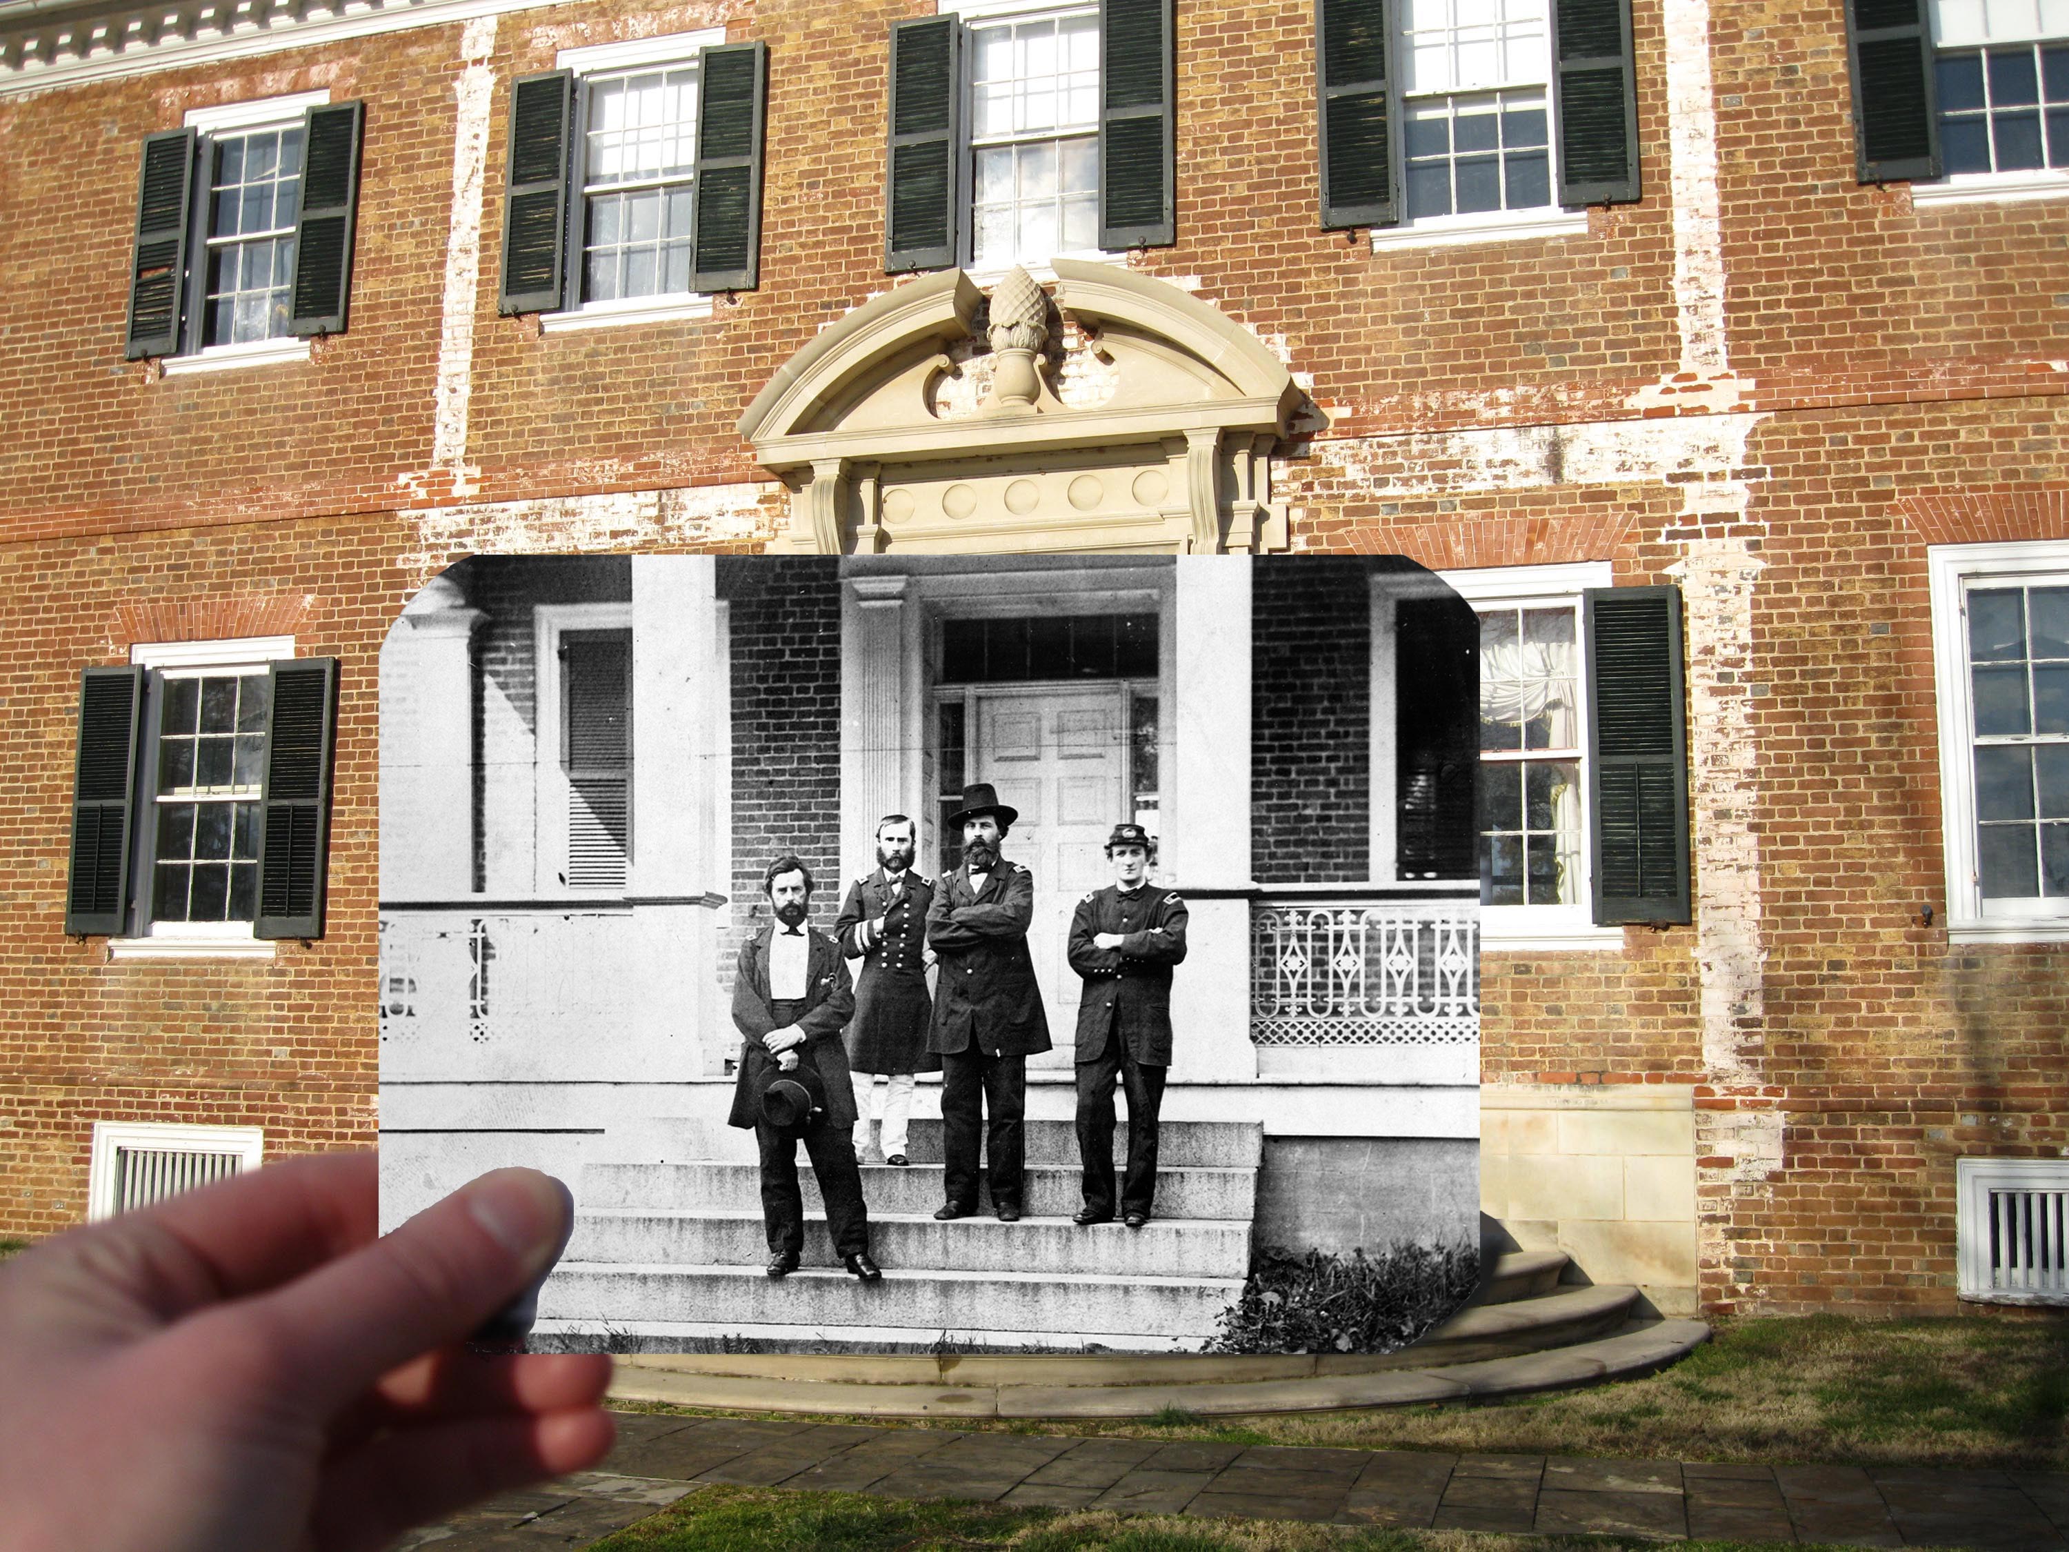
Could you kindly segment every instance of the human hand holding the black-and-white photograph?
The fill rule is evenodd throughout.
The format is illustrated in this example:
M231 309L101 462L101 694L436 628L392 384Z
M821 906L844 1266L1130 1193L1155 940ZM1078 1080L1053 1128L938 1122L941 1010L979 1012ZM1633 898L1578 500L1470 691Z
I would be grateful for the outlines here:
M499 1169L374 1240L374 1157L292 1159L0 1266L17 1552L352 1552L610 1449L602 1355L461 1347L552 1264Z

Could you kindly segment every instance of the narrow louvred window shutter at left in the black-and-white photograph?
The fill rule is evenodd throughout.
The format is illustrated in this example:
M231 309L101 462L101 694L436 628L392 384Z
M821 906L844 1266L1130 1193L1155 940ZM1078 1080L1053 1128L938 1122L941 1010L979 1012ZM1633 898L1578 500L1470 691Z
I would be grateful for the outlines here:
M567 888L623 890L631 857L631 631L561 635Z

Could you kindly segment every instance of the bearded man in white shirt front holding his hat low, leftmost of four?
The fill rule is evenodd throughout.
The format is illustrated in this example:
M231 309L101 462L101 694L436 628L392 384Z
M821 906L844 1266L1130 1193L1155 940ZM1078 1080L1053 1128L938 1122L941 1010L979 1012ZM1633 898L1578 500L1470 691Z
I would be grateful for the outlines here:
M797 1188L797 1144L803 1138L811 1173L819 1177L826 1227L842 1264L865 1283L883 1273L869 1258L869 1213L863 1171L854 1167L848 1128L854 1091L840 1031L854 1012L854 989L840 946L805 925L811 869L778 857L761 875L774 921L741 946L732 975L732 1022L741 1031L741 1070L732 1084L730 1126L753 1128L761 1148L761 1223L770 1242L770 1277L797 1271L805 1250L805 1198ZM778 1126L763 1091L784 1070L811 1064L826 1113L801 1126Z

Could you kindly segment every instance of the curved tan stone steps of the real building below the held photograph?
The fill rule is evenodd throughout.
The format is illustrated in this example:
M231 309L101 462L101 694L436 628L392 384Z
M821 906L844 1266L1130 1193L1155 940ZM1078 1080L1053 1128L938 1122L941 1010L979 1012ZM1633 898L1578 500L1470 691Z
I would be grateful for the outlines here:
M1649 1374L1709 1337L1632 1318L1632 1287L1560 1283L1566 1256L1496 1260L1481 1300L1399 1353L861 1355L668 1353L619 1362L610 1395L871 1417L1148 1417L1481 1401Z

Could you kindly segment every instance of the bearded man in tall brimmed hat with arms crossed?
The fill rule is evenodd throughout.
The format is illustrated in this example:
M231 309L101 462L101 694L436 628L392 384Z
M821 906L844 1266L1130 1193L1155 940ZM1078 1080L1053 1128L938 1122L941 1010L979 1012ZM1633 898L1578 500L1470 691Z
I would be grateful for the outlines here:
M977 1211L977 1134L991 1111L985 1163L991 1211L1014 1223L1022 1206L1026 1059L1049 1049L1049 1020L1028 954L1034 875L999 855L1018 809L972 782L948 815L962 828L962 865L927 908L927 946L941 962L927 1049L941 1057L943 1194L937 1219Z

